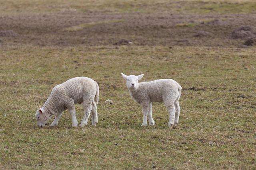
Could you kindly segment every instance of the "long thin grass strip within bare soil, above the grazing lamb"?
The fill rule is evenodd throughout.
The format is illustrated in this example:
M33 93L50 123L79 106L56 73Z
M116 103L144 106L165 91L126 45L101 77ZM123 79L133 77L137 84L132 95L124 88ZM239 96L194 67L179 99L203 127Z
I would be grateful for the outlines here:
M93 27L95 25L101 25L104 23L118 23L118 22L123 22L124 20L109 20L109 21L97 21L97 22L89 22L89 23L82 23L80 25L75 25L72 27L68 27L64 30L66 31L80 31L82 29L85 29L87 27Z

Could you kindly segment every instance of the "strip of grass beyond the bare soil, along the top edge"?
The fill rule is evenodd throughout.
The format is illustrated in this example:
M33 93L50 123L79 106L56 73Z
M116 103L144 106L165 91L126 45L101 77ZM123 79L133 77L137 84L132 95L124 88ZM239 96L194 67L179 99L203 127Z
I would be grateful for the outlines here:
M43 12L172 12L172 13L251 13L254 0L0 0L0 14L26 14Z

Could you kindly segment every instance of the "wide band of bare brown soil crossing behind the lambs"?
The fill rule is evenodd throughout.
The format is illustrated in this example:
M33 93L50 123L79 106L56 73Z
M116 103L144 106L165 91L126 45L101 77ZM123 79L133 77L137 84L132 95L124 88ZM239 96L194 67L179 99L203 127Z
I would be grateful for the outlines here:
M0 38L1 44L9 45L94 46L124 45L132 42L132 45L149 46L239 47L245 39L256 35L255 18L256 14L103 12L0 16ZM74 25L108 20L123 21L101 23L79 31L65 30ZM179 23L198 24L192 27L177 27L176 24Z

